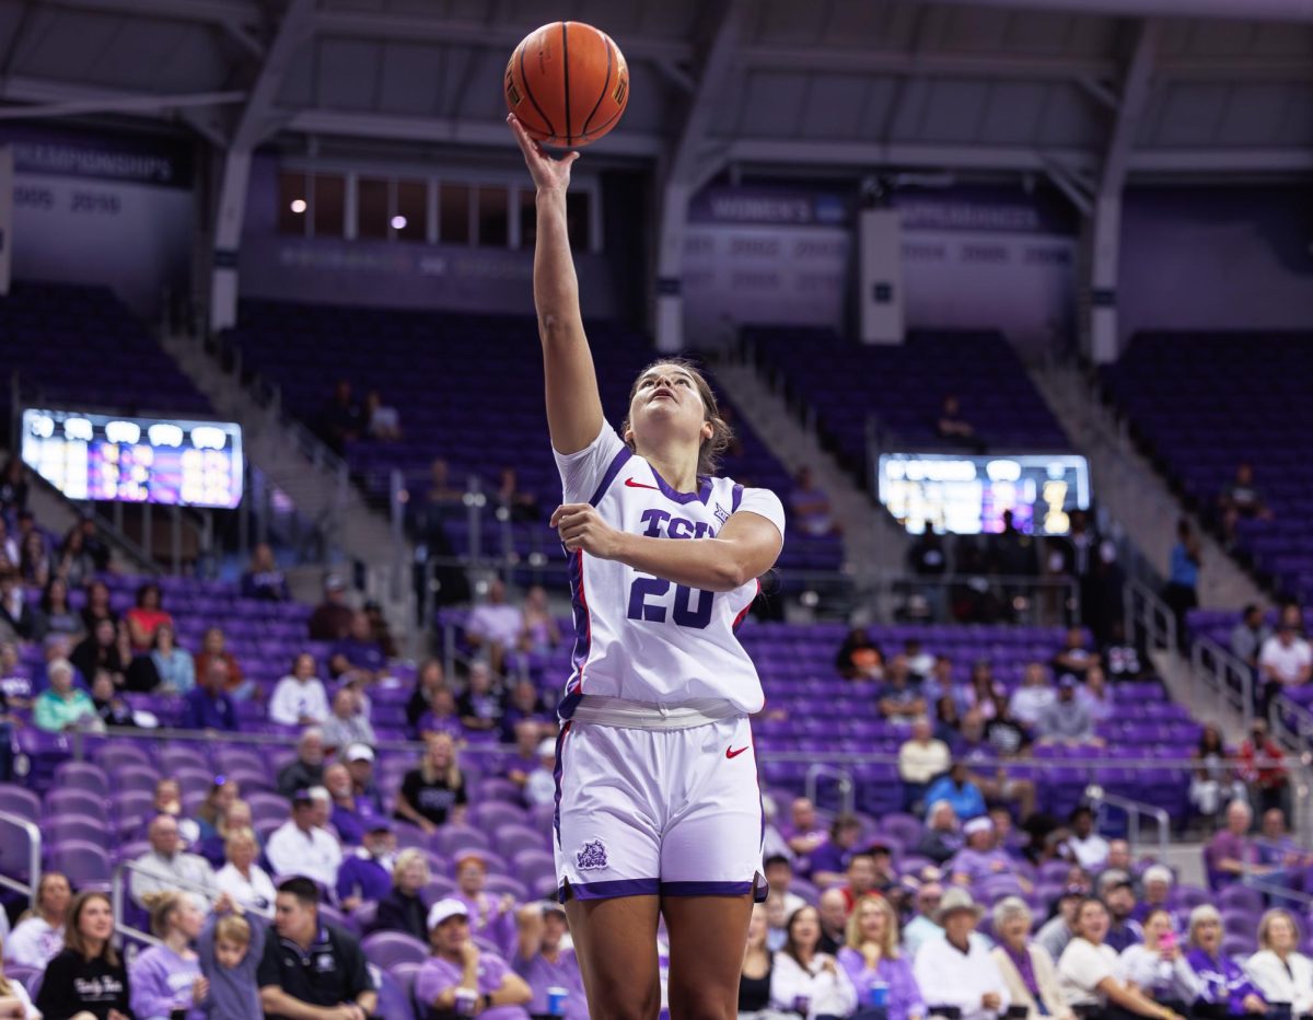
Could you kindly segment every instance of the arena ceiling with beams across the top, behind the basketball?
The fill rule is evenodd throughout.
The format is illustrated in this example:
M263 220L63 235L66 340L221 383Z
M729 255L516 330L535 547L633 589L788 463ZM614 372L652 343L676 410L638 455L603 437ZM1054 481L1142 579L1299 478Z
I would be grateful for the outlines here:
M629 110L599 155L1124 175L1313 171L1313 0L0 0L0 118L185 125L217 147L506 150L502 74L607 29Z

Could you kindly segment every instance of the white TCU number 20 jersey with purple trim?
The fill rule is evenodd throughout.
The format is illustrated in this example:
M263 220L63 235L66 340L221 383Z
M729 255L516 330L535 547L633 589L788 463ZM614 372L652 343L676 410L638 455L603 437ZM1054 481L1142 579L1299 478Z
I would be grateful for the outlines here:
M697 492L676 492L603 423L586 449L555 454L566 503L591 503L612 528L653 538L712 538L733 513L759 513L784 534L784 507L765 488L729 478L700 478ZM723 698L759 712L762 681L734 631L759 584L708 592L616 561L570 554L575 647L559 714L569 719L583 694L681 705Z

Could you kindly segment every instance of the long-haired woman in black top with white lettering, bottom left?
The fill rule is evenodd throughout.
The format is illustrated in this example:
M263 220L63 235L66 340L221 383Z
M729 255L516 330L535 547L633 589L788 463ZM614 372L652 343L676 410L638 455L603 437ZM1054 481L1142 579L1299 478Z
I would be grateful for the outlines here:
M37 1011L49 1020L133 1016L127 969L114 949L108 893L79 893L68 907L64 948L46 966Z

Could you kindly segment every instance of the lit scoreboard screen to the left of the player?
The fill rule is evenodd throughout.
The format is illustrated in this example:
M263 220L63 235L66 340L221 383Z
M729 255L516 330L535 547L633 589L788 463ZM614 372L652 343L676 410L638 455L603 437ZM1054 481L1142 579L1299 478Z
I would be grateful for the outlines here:
M28 408L22 459L70 499L232 509L242 427L231 421Z

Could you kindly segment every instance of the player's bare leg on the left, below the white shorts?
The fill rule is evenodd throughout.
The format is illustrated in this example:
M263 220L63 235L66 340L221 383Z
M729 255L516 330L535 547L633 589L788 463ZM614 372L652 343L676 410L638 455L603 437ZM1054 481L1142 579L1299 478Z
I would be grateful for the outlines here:
M593 1020L654 1020L660 1012L659 903L654 895L566 903Z

